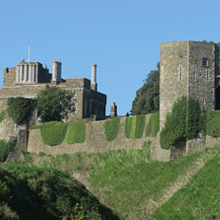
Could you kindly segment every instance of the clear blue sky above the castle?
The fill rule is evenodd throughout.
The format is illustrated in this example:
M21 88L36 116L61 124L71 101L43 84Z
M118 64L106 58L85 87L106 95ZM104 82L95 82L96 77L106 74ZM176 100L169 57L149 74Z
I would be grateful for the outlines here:
M0 86L3 69L27 59L61 59L63 78L91 78L118 114L129 112L137 89L167 41L220 42L219 0L0 0Z

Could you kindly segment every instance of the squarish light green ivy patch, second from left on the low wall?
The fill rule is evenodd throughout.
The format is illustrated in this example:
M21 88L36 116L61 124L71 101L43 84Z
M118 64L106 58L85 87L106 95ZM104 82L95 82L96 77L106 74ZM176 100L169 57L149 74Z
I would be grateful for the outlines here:
M83 143L86 139L86 123L79 121L67 128L65 140L68 144Z

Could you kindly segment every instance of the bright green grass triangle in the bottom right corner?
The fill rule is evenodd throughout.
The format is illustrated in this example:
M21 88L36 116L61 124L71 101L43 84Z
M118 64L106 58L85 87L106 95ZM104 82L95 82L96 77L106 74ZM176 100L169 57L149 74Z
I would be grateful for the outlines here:
M154 213L155 219L220 219L220 153Z

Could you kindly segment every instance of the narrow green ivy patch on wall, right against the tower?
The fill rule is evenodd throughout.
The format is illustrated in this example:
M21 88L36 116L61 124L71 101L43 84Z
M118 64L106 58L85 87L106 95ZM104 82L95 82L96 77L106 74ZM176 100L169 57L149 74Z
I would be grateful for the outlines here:
M149 122L146 127L147 137L156 137L159 131L159 112L151 114Z

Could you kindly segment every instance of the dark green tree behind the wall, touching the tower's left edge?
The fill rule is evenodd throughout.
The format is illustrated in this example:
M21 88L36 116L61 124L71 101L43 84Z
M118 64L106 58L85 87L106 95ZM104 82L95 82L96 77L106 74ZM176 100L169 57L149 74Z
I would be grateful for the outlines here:
M145 80L144 85L136 92L132 103L131 114L147 114L159 110L159 63L157 70L153 70Z

